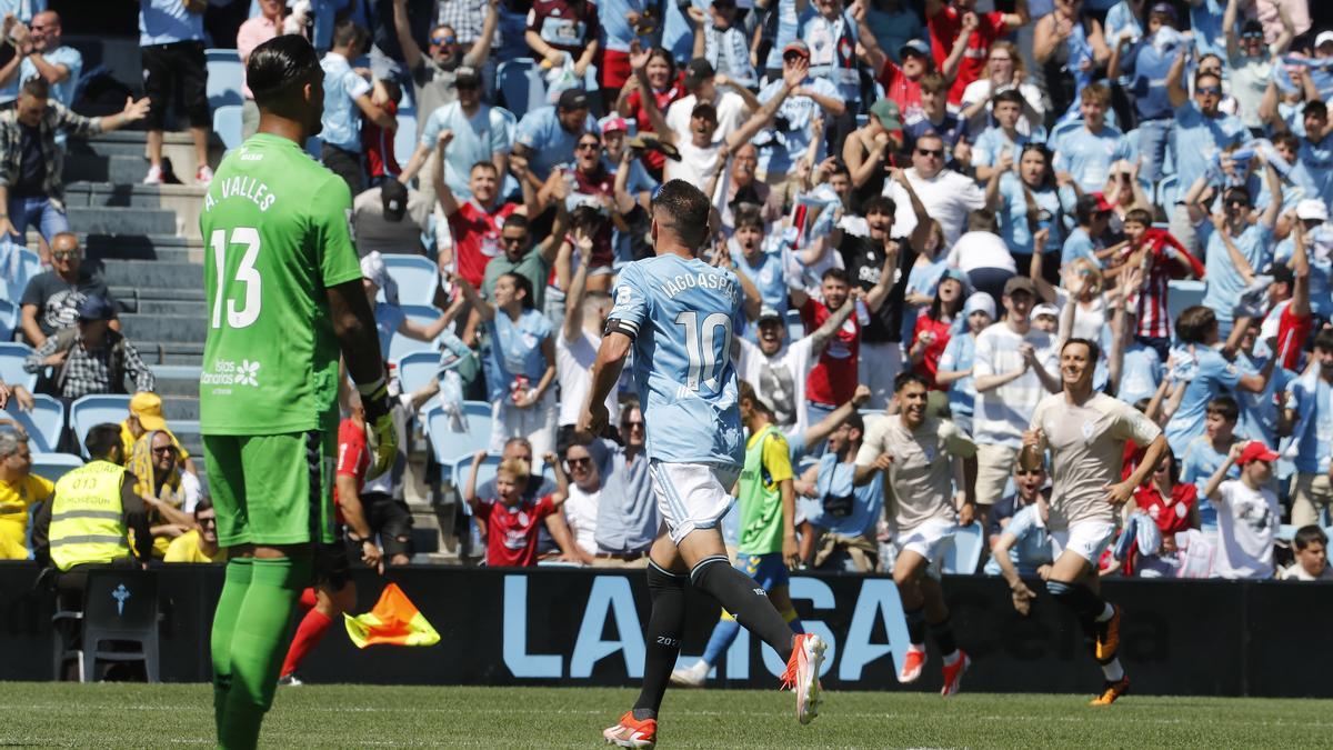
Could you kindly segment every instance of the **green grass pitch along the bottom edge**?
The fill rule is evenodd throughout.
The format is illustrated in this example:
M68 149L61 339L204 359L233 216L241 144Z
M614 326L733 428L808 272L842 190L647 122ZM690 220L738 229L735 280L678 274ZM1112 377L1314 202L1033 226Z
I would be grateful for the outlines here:
M212 746L205 685L0 683L0 746ZM265 747L595 747L633 690L563 687L279 689ZM789 693L666 694L660 747L1298 747L1328 746L1333 701L1129 695L828 693L809 726Z

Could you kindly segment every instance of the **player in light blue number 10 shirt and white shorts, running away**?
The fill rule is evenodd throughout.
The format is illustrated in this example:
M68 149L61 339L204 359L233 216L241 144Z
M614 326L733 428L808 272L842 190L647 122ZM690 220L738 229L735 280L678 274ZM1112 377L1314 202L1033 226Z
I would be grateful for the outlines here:
M653 196L652 219L657 255L620 272L579 420L583 434L607 430L607 395L633 348L665 531L649 552L653 611L645 633L644 687L635 707L603 735L640 749L657 741L657 711L685 630L688 585L710 594L786 661L782 682L796 691L801 723L817 714L826 647L817 635L793 634L764 590L732 567L722 544L718 522L730 508L730 488L745 456L730 360L742 292L734 274L697 258L709 236L708 198L684 180L670 180Z

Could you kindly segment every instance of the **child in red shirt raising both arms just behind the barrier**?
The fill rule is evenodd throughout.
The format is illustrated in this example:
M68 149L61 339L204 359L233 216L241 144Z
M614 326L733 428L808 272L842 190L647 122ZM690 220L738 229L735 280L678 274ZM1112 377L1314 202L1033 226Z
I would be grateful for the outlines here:
M524 502L528 486L528 462L508 458L496 468L499 498L477 496L477 467L487 451L472 458L472 472L463 496L472 507L472 515L487 524L487 566L529 567L537 565L537 532L541 519L560 512L569 498L569 478L555 454L543 458L556 470L556 491L537 502Z

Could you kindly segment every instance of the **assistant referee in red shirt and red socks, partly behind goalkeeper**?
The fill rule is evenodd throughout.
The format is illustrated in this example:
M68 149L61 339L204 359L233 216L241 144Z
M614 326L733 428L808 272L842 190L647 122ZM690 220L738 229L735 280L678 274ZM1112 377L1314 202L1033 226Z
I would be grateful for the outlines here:
M333 625L335 618L356 606L356 582L348 570L349 554L359 555L365 565L384 573L384 554L371 538L371 526L361 510L361 486L371 467L371 451L365 447L365 412L359 402L337 428L337 470L333 476L333 511L336 538L332 544L320 544L321 565L316 566L325 578L301 594L301 606L309 611L292 637L287 659L279 677L280 685L300 685L296 669ZM344 523L351 527L343 538Z

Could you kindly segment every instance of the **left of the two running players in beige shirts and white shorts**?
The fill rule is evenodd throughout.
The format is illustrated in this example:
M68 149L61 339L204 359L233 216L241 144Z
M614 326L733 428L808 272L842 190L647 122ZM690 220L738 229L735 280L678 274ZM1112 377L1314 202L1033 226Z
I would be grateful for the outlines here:
M949 697L958 691L972 659L954 643L936 566L941 543L953 536L960 524L972 523L977 446L953 422L926 415L928 392L925 379L916 372L897 376L893 398L898 414L882 416L866 428L856 454L856 483L865 484L874 479L876 471L884 471L885 504L893 507L898 544L893 582L898 586L912 639L898 682L916 682L921 677L929 625L944 659L940 694ZM954 462L944 460L945 456L961 459L965 466L961 507L954 503Z

